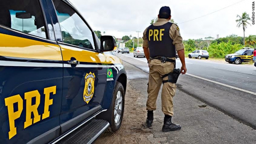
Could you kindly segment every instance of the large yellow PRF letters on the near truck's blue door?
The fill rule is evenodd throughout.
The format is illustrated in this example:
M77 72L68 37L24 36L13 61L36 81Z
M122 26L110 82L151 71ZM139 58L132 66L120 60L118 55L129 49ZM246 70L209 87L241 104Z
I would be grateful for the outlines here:
M56 94L56 86L46 87L44 88L44 113L39 115L38 113L38 106L40 105L40 93L38 90L26 92L24 94L24 100L21 98L20 95L13 95L4 99L5 106L8 110L8 118L9 118L9 139L17 134L17 129L15 127L15 120L20 118L20 115L24 109L26 109L26 119L24 122L24 129L28 126L39 122L47 117L50 117L49 106L52 105L53 99L50 98L50 94ZM36 99L36 103L32 105L32 98ZM14 112L14 103L18 104L18 110ZM26 108L23 108L23 103L26 103ZM31 118L31 113L33 113L34 118ZM42 119L41 119L42 118Z

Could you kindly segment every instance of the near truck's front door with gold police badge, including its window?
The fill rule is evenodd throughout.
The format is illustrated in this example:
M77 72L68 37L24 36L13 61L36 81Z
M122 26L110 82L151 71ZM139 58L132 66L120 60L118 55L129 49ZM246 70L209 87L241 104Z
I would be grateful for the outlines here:
M104 54L95 50L94 41L98 38L81 15L64 1L53 0L53 4L62 35L59 45L64 80L60 126L65 133L102 109L107 65Z

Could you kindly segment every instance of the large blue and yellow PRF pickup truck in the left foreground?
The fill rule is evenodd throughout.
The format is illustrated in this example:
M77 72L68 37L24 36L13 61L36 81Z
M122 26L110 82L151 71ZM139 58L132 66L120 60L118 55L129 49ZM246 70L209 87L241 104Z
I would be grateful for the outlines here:
M1 0L0 143L92 143L117 131L126 72L68 0Z

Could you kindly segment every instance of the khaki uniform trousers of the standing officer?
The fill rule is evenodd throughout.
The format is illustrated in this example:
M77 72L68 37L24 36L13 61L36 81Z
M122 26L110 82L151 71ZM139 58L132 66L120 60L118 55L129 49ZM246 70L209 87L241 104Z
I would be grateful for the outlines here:
M172 58L175 59L175 58ZM173 72L174 63L162 63L158 59L149 60L149 78L148 78L148 100L147 110L156 110L156 99L162 85L164 74ZM168 80L165 77L164 80ZM176 85L174 83L166 82L162 88L162 111L164 115L173 116L173 102L172 98L176 92Z

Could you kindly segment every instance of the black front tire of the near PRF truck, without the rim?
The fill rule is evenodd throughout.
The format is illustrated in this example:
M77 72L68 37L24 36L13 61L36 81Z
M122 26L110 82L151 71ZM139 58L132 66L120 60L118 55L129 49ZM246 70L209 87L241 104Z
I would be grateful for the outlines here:
M115 122L115 105L116 105L116 97L117 97L117 94L118 94L119 91L122 94L122 98L121 98L122 106L117 107L121 110L121 114L120 114L119 121L116 123ZM114 133L114 132L118 131L121 124L122 124L123 116L124 116L124 96L125 96L124 95L124 87L120 82L117 81L115 89L114 89L114 93L113 93L113 96L112 96L112 102L111 102L111 105L110 105L109 109L105 112L100 113L96 117L96 118L99 118L99 119L107 120L109 122L110 126L107 130L107 132L109 132L109 133Z

